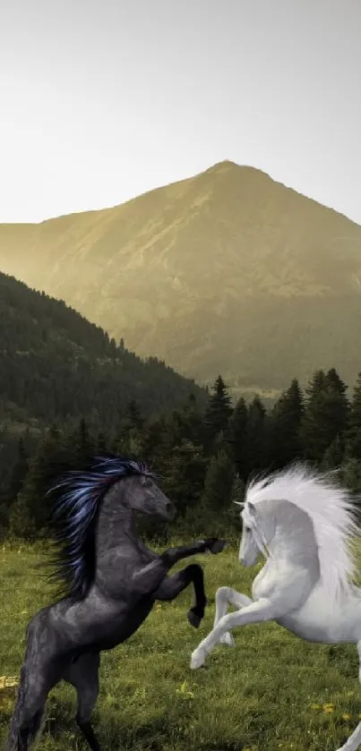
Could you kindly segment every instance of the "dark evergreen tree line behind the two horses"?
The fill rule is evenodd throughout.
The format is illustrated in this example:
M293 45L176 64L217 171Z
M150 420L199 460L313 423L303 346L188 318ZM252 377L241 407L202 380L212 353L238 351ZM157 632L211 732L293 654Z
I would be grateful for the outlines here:
M116 430L94 431L87 419L71 429L53 426L39 440L0 435L2 534L47 536L49 483L64 469L80 468L91 453L116 451L145 460L174 500L173 525L140 522L144 533L221 533L239 524L232 500L243 499L253 474L295 460L322 470L340 468L342 482L361 491L361 373L351 398L335 369L315 371L305 390L295 379L266 410L255 396L236 405L219 375L204 406L191 394L172 414L146 418L128 402Z

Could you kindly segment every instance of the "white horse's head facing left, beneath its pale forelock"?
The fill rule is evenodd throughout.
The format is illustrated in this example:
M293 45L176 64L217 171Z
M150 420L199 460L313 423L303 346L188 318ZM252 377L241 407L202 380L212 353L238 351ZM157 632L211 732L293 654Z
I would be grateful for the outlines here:
M254 503L246 502L241 512L243 523L239 546L239 562L243 566L255 566L260 553L268 554L268 545L276 531L275 519L271 514L262 514Z

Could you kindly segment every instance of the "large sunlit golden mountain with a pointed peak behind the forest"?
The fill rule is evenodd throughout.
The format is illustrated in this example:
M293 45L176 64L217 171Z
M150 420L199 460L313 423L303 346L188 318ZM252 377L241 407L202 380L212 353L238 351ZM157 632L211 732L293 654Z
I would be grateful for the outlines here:
M361 227L252 167L2 225L0 269L203 382L277 391L361 370Z

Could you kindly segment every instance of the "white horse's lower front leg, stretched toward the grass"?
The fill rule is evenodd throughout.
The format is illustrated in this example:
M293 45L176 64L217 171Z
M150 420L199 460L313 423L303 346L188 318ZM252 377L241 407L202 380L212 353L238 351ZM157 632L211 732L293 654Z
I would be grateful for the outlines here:
M207 654L211 653L219 642L220 636L226 634L231 628L246 626L248 623L257 623L257 621L273 620L275 617L274 604L265 597L256 602L251 602L242 610L236 610L235 613L228 613L228 615L223 616L219 619L217 626L212 629L211 634L206 636L192 653L191 668L193 670L200 668Z

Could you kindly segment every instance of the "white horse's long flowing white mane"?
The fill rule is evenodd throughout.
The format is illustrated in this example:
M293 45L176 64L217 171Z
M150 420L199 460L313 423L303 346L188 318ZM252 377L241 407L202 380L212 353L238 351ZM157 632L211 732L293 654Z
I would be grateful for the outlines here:
M244 505L247 512L249 503L256 506L266 499L288 500L308 514L314 525L322 584L333 602L353 587L357 565L349 543L360 534L360 528L355 501L334 482L332 474L318 474L306 465L293 465L250 482Z

